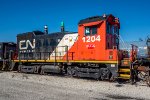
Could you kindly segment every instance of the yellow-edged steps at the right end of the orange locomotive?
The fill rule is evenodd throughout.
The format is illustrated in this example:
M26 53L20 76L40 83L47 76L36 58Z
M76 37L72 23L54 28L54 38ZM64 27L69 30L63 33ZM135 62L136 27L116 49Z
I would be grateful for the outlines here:
M121 65L118 68L118 78L127 80L131 78L130 65L131 62L129 58L124 58L123 60L121 60Z

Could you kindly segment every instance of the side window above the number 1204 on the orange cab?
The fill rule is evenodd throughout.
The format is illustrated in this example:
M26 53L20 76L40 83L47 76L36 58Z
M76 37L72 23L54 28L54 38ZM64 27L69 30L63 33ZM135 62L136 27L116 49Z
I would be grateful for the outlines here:
M85 27L85 35L97 34L97 26Z

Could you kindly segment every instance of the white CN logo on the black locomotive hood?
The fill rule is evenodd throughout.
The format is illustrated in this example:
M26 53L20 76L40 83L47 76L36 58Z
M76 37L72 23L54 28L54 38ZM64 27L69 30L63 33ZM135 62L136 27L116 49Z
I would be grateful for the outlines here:
M33 43L31 43L30 40L22 40L19 42L19 49L20 50L26 50L28 47L31 47L32 49L35 48L35 39L33 39Z

